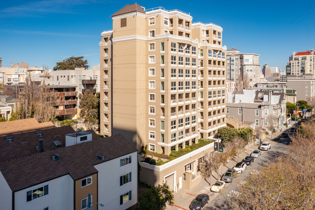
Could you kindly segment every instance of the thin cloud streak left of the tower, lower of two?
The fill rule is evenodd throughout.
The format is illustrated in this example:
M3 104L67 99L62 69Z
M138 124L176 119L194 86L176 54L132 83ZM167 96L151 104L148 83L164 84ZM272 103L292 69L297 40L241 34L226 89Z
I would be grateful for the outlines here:
M62 33L62 32L49 32L49 31L20 31L20 30L10 30L10 29L0 29L1 32L8 33L22 33L22 34L32 34L32 35L51 35L59 37L84 37L84 38L98 38L99 36L93 36L89 34L81 33Z

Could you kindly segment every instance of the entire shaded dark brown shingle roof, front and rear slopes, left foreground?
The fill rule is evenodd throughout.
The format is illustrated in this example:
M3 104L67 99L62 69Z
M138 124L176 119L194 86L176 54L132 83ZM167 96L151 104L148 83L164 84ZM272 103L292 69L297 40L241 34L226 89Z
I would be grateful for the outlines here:
M36 131L14 134L11 143L0 137L0 171L12 191L66 174L77 180L97 173L96 164L137 151L122 135L100 138L89 131L92 141L65 147L65 135L75 132L70 125L41 131L41 137ZM42 153L36 149L38 139L44 139ZM61 141L62 147L55 148L55 140ZM52 159L55 154L60 155L60 162ZM96 154L104 156L104 160L100 161Z

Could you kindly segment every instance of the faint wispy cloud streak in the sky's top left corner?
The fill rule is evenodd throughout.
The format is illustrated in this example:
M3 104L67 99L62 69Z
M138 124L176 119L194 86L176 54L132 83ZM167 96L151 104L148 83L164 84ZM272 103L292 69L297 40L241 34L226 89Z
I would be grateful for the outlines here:
M48 13L75 14L71 7L96 3L98 0L44 0L26 3L0 10L2 17L44 16Z

